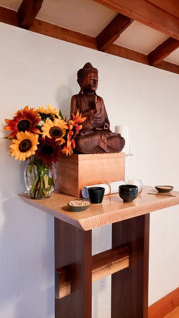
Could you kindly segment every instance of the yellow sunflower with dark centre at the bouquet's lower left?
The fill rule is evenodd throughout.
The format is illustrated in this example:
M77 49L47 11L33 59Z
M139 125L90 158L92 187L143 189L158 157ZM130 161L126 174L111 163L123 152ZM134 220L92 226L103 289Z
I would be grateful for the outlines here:
M38 135L21 131L17 133L16 137L17 139L12 139L12 143L9 146L10 156L24 161L26 158L35 154L37 145L39 144Z

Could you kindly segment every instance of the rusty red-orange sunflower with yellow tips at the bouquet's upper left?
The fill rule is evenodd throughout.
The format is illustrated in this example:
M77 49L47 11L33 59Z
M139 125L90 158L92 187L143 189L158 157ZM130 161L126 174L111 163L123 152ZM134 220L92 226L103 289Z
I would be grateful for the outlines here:
M8 135L8 138L13 138L21 131L23 133L27 131L32 134L40 134L40 130L36 128L40 120L38 112L26 106L24 109L18 110L13 119L5 119L7 125L5 125L4 129L12 132Z

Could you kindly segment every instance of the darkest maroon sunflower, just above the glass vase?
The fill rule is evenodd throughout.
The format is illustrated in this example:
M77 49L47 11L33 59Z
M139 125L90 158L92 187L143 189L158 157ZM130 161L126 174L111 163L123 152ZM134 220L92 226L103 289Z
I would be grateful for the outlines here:
M52 164L58 161L61 153L60 140L55 141L55 137L39 138L39 145L35 156L43 160L44 163Z

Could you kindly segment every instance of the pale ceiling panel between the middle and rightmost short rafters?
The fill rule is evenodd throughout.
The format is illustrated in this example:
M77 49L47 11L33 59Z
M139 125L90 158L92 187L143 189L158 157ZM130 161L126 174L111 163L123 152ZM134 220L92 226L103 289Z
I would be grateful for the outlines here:
M115 41L115 44L149 54L167 38L167 35L134 21Z

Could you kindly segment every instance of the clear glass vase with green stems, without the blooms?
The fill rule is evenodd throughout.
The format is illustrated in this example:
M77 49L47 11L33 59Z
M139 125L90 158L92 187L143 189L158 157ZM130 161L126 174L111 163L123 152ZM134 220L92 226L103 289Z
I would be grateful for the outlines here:
M30 161L25 168L24 178L31 199L47 199L54 190L56 168L54 165L37 165Z

